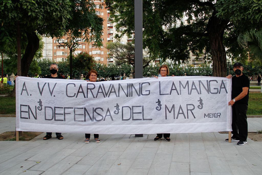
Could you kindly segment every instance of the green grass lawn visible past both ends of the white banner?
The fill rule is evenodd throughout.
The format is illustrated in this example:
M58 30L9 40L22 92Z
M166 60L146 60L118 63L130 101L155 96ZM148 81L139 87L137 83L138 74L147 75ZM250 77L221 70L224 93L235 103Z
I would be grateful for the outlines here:
M15 114L15 97L0 97L0 114ZM247 115L262 115L261 93L249 93Z

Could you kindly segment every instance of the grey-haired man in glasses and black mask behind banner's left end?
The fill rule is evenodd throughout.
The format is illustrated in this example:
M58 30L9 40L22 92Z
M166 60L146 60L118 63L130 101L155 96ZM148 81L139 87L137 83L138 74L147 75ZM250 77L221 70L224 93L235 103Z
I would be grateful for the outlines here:
M57 75L58 72L58 65L56 63L52 63L50 65L50 73L51 75L44 76L43 78L56 78L56 79L63 79L63 77ZM52 132L47 132L46 136L43 137L43 140L48 140L52 137ZM61 132L56 132L56 138L58 140L62 140L64 137L61 135Z

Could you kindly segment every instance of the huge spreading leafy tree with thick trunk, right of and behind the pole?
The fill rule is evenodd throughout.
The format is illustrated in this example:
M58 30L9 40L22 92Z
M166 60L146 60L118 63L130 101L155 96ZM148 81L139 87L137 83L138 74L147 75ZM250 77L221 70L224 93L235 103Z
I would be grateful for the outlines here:
M116 23L116 30L120 32L116 38L133 34L134 1L110 0L106 5ZM241 9L241 13L235 6ZM251 0L143 0L143 47L164 61L171 59L178 64L187 62L190 51L197 57L204 52L213 61L213 75L225 77L225 47L238 50L238 55L243 53L239 47L236 49L236 38L254 26L261 28L261 8L261 1ZM232 14L223 13L223 10ZM184 17L187 17L187 25L183 23ZM244 20L241 25L239 21ZM226 38L228 42L224 42Z

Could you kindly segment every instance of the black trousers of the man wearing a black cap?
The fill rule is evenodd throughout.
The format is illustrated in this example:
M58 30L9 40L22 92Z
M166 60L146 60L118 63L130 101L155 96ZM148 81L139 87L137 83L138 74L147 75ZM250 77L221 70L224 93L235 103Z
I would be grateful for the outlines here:
M232 106L232 134L241 141L247 140L247 108L247 104Z

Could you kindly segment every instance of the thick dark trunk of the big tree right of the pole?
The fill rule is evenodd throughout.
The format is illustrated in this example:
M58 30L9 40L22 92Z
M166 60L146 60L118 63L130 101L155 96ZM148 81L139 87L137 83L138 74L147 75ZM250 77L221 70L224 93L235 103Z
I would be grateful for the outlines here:
M208 21L207 31L210 38L214 77L226 77L227 59L223 45L223 34L228 22L228 20L218 19L215 12Z

